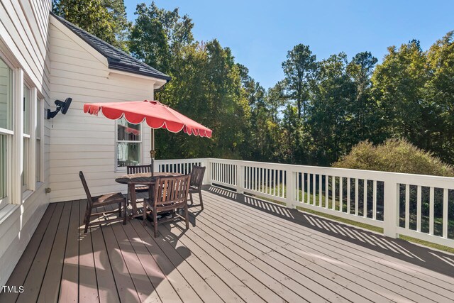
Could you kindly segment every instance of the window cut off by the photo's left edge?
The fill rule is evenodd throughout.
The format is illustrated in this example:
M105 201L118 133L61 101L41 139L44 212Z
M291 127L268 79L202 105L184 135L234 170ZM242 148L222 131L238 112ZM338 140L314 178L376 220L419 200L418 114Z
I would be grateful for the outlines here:
M9 203L9 149L13 135L13 70L0 59L0 209Z

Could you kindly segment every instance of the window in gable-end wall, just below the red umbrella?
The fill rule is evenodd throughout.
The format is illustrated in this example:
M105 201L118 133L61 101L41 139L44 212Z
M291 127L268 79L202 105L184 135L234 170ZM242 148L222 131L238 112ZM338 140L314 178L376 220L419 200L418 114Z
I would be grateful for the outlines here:
M117 120L116 166L140 164L140 124L131 124L122 118Z

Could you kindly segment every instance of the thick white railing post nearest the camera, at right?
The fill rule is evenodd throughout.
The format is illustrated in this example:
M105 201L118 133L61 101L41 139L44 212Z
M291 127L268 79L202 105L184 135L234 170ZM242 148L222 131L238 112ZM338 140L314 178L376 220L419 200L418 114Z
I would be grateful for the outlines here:
M399 225L399 184L393 180L384 181L383 206L383 234L390 238L397 238L397 226Z

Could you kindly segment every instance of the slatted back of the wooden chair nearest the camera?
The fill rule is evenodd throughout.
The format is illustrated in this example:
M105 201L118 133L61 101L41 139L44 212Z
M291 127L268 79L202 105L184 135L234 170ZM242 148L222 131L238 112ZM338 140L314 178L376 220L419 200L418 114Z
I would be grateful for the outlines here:
M180 204L187 201L190 175L178 177L161 177L156 180L153 205Z

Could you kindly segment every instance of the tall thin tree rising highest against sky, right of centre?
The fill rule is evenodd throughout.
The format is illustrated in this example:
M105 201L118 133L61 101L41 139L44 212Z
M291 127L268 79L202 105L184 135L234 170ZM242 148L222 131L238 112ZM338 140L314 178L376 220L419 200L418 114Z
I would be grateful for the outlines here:
M287 53L287 60L282 62L289 98L297 104L298 119L306 119L306 107L309 100L309 84L316 70L316 56L312 55L308 45L299 44Z

